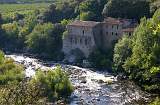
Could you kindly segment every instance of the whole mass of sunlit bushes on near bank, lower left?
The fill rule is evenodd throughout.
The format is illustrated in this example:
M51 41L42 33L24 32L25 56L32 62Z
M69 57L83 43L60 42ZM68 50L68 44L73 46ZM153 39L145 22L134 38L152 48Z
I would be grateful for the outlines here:
M67 99L73 86L60 67L25 78L24 68L0 52L0 104L44 105Z

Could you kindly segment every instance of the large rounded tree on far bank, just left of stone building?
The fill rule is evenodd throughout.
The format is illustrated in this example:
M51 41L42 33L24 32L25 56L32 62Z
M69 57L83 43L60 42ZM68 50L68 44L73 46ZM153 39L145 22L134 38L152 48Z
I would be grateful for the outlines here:
M38 24L27 37L27 46L33 53L56 57L62 48L63 31L64 27L60 24Z

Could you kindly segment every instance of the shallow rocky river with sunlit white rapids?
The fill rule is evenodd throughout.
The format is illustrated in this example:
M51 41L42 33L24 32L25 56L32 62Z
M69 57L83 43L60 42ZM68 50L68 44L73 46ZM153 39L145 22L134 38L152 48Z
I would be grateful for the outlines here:
M8 54L16 63L23 64L26 77L35 75L35 70L54 69L58 63L43 62L23 54ZM107 71L59 64L69 73L75 87L69 105L145 105L150 95L141 91L133 82L118 80Z

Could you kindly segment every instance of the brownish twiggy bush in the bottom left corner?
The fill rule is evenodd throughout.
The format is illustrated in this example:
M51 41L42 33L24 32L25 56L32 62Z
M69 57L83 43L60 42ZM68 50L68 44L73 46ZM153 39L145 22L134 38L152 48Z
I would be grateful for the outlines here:
M0 92L1 105L46 105L47 101L40 84L29 81L4 86Z

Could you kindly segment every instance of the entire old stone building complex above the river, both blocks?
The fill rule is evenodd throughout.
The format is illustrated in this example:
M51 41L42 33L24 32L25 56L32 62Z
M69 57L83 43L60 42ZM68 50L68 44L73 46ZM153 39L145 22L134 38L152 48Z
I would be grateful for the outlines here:
M103 22L76 20L67 26L68 35L63 39L63 52L71 55L72 50L79 49L88 57L95 48L105 51L123 34L131 35L135 26L136 22L131 19L108 17Z

